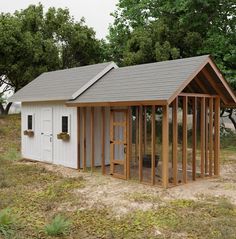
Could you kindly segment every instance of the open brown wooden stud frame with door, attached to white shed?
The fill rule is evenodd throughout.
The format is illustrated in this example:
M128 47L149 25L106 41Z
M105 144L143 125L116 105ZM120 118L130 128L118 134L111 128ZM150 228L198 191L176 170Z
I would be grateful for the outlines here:
M214 67L213 65L211 65ZM211 92L202 81L206 77ZM206 69L193 76L182 91L170 101L81 104L78 125L82 124L82 141L78 142L81 168L96 167L94 148L95 108L101 114L101 172L120 179L136 179L145 184L164 188L186 184L199 178L220 173L220 100L226 100ZM195 85L198 87L196 90ZM208 86L209 87L209 86ZM214 90L214 93L213 93ZM86 124L86 110L90 108L90 123ZM125 120L115 120L114 114L124 114ZM107 113L110 117L107 117ZM86 127L90 127L90 147L86 147ZM116 139L115 128L122 128L122 139ZM106 130L109 129L109 139ZM78 126L79 130L79 126ZM110 161L106 162L106 142L110 142ZM115 158L115 147L124 150ZM119 148L118 147L118 148ZM90 159L86 151L90 150ZM123 152L123 151L122 151ZM79 157L81 156L81 157ZM90 163L88 164L88 161ZM148 165L148 166L147 166ZM123 171L115 172L115 167ZM109 168L108 170L106 170ZM107 173L109 172L109 173Z

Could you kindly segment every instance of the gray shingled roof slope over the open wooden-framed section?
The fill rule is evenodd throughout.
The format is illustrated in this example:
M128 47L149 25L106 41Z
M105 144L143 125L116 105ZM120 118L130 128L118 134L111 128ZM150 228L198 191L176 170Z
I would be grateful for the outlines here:
M168 100L208 55L113 69L68 103Z

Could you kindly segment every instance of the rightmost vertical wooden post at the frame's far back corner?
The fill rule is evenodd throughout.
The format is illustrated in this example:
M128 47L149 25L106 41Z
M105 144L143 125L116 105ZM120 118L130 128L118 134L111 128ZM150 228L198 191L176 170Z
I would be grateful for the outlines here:
M220 174L220 98L215 98L214 174Z

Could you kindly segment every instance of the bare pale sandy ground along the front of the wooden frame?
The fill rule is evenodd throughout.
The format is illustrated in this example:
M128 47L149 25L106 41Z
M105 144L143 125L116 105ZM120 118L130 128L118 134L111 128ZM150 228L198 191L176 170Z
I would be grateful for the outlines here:
M193 199L215 196L227 197L236 204L236 163L221 167L221 176L180 185L170 189L149 186L134 181L125 181L100 173L83 173L61 166L37 163L49 171L62 174L64 177L83 177L85 187L74 193L83 199L84 209L94 207L109 207L119 217L133 210L148 210L160 205L166 200ZM135 195L152 200L135 200ZM160 199L160 200L158 200ZM157 203L158 202L158 203ZM83 208L80 208L83 210Z

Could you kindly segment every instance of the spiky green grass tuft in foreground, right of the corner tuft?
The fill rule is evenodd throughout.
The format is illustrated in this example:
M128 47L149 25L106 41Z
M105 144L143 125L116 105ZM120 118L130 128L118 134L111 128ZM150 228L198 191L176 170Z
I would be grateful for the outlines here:
M51 223L45 226L45 232L49 236L62 236L68 233L70 225L70 221L61 215L57 215Z

